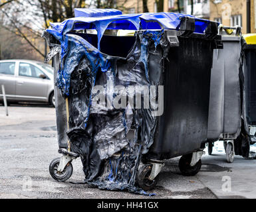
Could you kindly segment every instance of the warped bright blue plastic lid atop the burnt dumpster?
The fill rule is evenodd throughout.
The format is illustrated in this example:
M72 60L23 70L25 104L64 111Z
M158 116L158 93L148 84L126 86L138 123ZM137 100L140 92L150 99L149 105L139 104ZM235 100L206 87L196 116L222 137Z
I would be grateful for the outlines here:
M195 33L205 33L205 28L210 21L197 19L192 15L181 13L140 13L125 14L116 9L75 9L76 17L67 19L62 23L51 23L53 29L47 29L57 39L71 30L96 29L98 36L98 49L100 40L106 29L123 29L123 30L160 30L173 29L180 30L180 25L184 19L194 19ZM111 15L112 14L112 15ZM77 17L78 16L78 17ZM186 30L186 29L182 29Z

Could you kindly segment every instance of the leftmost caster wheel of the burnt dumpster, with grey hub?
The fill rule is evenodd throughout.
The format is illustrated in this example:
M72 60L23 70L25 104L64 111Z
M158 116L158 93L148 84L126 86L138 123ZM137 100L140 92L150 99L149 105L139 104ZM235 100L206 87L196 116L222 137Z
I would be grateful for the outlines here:
M51 162L51 164L49 166L49 172L53 179L57 180L58 182L65 182L66 180L68 180L68 178L70 178L72 176L73 166L69 162L68 164L66 164L66 166L62 172L58 172L60 160L61 160L61 158L55 158Z

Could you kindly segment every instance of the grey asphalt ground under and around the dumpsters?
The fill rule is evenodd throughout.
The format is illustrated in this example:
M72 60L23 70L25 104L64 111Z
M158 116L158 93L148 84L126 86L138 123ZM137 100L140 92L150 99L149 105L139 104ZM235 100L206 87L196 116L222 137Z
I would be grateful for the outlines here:
M72 164L68 182L59 183L49 174L49 164L57 158L55 109L42 105L9 107L9 116L0 106L0 198L255 198L256 160L235 156L233 164L225 154L203 155L197 176L185 177L178 158L166 160L156 196L126 191L106 191L84 184L80 159Z

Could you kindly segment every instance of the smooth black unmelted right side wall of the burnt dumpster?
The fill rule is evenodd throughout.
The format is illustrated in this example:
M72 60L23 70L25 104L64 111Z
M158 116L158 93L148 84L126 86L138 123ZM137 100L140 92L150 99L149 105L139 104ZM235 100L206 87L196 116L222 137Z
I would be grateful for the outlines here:
M164 115L159 117L152 159L198 150L207 139L209 85L213 50L209 40L179 38L164 72Z

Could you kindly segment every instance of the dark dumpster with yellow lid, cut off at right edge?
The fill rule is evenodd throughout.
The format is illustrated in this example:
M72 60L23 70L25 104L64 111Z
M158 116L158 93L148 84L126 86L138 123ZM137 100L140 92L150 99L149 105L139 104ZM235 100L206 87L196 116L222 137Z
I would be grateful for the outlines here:
M243 38L243 119L241 134L235 142L235 154L248 158L250 144L256 142L256 34L243 34Z

